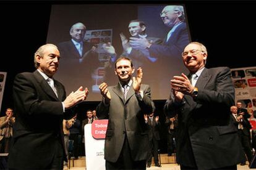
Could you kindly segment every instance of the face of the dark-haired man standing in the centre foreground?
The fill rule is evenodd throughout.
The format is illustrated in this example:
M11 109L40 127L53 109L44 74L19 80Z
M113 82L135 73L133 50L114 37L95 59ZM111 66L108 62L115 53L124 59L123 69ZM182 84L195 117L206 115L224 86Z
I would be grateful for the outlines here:
M114 71L118 76L119 81L130 81L132 74L134 73L134 67L131 67L129 60L120 60L116 63L116 69Z

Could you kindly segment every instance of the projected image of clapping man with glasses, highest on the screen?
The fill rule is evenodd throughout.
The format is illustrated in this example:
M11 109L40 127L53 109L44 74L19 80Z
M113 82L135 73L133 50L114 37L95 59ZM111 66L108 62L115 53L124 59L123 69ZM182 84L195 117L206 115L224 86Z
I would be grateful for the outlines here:
M146 38L130 38L130 45L134 49L148 49L150 56L163 59L178 58L182 50L189 43L189 33L182 6L166 6L160 14L169 32L162 44L151 44Z

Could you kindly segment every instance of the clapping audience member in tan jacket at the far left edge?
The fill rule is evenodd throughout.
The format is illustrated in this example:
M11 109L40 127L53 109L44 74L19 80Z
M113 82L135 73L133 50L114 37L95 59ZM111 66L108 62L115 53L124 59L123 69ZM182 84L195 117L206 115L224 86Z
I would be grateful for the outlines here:
M6 109L6 116L0 118L0 151L9 153L9 147L12 140L12 126L15 123L12 108Z

